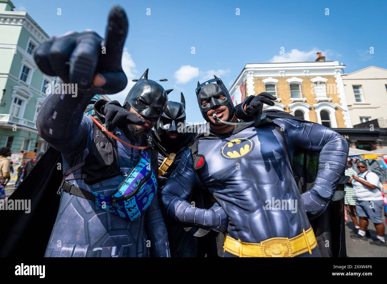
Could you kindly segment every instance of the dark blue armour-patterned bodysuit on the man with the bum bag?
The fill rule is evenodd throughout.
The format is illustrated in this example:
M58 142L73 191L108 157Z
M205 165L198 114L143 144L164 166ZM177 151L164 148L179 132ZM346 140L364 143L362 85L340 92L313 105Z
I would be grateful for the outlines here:
M93 122L90 117L84 116L83 112L91 96L50 94L39 112L36 121L39 134L62 153L63 172L84 161L89 153L93 141ZM119 128L115 131L123 133ZM119 137L129 144L141 146L141 141L133 136L121 134ZM128 173L139 158L140 150L123 145L119 141L116 141L116 145L120 170ZM157 171L155 151L152 152L151 159L151 165ZM75 175L81 173L81 169L73 172ZM73 179L69 182L84 190L107 196L117 189L123 179L123 175L116 175L91 185L86 184L83 179ZM90 200L61 190L60 207L45 256L169 256L168 235L158 197L153 198L145 216L127 221L104 211Z

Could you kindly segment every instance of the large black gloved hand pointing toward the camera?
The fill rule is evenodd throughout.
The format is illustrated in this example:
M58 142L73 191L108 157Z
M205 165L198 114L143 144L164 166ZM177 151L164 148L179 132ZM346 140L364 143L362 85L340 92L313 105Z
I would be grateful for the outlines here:
M128 26L125 11L115 6L104 39L93 31L51 37L34 52L35 62L43 73L76 84L82 94L116 94L128 82L121 66ZM94 82L97 74L100 80Z

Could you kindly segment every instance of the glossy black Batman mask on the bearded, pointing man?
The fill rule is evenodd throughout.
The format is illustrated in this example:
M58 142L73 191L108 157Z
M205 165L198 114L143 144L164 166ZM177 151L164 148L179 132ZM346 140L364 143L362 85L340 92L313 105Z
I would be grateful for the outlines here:
M144 118L157 121L167 107L168 96L159 83L148 80L148 70L130 89L123 107L132 107Z

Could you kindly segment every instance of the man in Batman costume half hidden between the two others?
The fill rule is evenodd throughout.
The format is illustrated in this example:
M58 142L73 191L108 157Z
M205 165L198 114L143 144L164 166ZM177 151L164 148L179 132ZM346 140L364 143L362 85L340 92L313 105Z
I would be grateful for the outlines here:
M169 94L172 89L166 90ZM241 105L235 109L241 113ZM185 150L194 142L200 133L207 133L207 123L196 126L186 125L185 98L180 93L180 103L168 102L167 108L159 118L154 130L150 134L155 150L158 152L159 177L158 192L161 193L165 182L175 170ZM194 190L190 203L196 207L210 208L214 199L206 192ZM214 257L218 255L215 232L200 237L196 234L198 228L187 227L184 224L166 218L168 238L172 257Z

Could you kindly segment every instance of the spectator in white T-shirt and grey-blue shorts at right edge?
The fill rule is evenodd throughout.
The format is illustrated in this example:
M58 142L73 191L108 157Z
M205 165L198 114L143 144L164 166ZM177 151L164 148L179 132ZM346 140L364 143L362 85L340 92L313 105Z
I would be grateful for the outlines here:
M367 240L366 229L368 227L368 219L373 222L376 228L376 239L371 242L371 245L387 246L384 238L384 224L382 220L384 202L380 192L381 182L376 173L368 170L364 162L358 162L358 176L352 175L352 185L354 194L357 198L356 212L359 216L360 228L358 233L351 235L351 238Z

